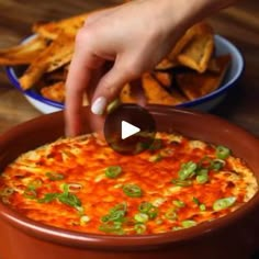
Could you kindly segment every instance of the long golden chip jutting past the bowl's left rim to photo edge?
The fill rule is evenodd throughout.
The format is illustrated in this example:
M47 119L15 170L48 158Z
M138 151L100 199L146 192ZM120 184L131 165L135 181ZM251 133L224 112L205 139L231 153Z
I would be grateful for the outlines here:
M36 36L31 41L14 47L0 50L0 65L27 65L31 64L47 47L48 42Z

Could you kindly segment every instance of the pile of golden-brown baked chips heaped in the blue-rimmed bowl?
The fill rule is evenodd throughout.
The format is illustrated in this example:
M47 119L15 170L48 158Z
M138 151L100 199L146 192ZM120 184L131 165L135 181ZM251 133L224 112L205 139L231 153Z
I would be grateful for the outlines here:
M57 22L34 24L33 37L0 50L0 65L14 66L24 91L33 89L46 99L63 103L75 37L88 15L82 13ZM230 56L215 57L214 48L214 32L207 23L200 22L190 27L169 55L139 79L147 103L178 105L217 89ZM121 91L122 102L136 102L132 87L127 83Z

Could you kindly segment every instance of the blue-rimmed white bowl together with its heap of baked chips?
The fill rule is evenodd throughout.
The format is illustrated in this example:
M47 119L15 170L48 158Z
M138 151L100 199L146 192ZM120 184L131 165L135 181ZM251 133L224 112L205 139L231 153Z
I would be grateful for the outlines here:
M7 67L10 81L42 113L64 109L75 36L88 14L36 23L33 35L22 44L0 50L0 65ZM142 75L138 87L148 104L210 111L236 85L243 69L238 48L200 22L187 30L151 71ZM133 87L131 82L123 87L122 103L137 102Z

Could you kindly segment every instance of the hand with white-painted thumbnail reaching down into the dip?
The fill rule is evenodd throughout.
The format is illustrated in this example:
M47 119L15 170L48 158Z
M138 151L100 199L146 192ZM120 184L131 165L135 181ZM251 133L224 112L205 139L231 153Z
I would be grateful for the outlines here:
M102 115L123 86L153 69L211 2L224 1L135 0L91 14L77 35L66 82L67 135L81 132L86 92L92 113Z

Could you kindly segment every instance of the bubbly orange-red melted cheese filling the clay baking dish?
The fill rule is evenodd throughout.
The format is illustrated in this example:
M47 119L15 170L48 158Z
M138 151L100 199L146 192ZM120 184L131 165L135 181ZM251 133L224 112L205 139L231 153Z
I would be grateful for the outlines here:
M2 201L34 221L56 227L99 234L156 234L225 216L258 191L251 170L233 156L217 171L206 168L206 182L199 183L193 172L184 179L187 187L176 184L173 179L179 179L182 165L201 165L204 157L217 159L216 147L177 134L159 133L157 138L161 139L160 148L135 156L113 151L95 135L42 146L23 154L2 172ZM150 159L156 156L159 159ZM115 178L105 174L112 166L122 169ZM127 184L139 188L140 195L127 195ZM215 202L221 199L235 202L216 210ZM139 211L145 203L151 205L154 214ZM117 205L122 215L114 219L111 210Z

